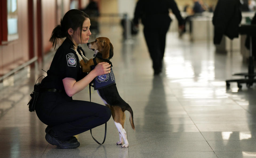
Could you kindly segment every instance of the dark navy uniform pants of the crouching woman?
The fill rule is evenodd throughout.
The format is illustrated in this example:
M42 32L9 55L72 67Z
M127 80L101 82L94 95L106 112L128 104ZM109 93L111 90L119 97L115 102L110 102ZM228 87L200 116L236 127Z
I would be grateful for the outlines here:
M58 92L40 93L35 110L38 118L51 126L60 140L102 125L111 117L110 109L104 105L71 100Z

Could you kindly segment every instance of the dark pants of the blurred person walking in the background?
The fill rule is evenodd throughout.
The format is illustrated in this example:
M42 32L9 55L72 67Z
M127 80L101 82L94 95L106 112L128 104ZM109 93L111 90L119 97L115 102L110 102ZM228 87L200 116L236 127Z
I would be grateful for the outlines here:
M152 24L152 26L154 25ZM163 24L159 28L152 28L152 26L144 26L143 32L153 62L153 69L154 71L161 71L163 55L165 53L166 33L170 23Z

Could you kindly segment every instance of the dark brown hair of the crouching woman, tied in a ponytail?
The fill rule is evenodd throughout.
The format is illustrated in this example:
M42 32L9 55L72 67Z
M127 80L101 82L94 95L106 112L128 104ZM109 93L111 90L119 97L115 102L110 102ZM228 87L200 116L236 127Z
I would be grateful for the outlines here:
M61 24L57 25L51 33L50 42L53 43L54 49L57 44L57 39L62 39L64 37L69 37L71 39L70 35L67 32L69 28L72 28L74 31L80 28L81 37L83 22L86 18L89 18L89 16L83 11L77 9L71 9L67 11L61 19Z

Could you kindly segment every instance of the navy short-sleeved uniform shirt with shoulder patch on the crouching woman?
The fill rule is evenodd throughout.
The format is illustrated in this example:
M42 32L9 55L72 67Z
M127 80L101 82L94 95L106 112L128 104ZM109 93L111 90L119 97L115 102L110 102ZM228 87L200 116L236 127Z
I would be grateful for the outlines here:
M69 77L78 81L86 76L87 73L82 72L77 54L71 49L73 45L73 42L66 38L59 46L50 69L47 71L47 76L41 82L43 88L56 88L65 91L62 79ZM78 52L80 53L79 50L83 52L82 48L78 46ZM85 55L84 52L83 54Z

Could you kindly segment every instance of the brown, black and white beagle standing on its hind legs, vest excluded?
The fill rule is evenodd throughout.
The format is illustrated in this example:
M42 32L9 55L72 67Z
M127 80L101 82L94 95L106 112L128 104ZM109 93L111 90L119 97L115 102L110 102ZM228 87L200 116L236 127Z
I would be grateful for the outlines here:
M113 57L113 45L110 43L110 40L107 37L98 37L95 41L87 43L87 46L89 49L95 52L94 59L87 59L84 55L81 56L77 52L75 46L73 46L73 49L75 50L78 56L83 72L90 72L91 66L97 65L97 63L99 62L109 62L111 64L109 59ZM135 131L133 122L133 110L131 109L130 105L127 104L120 97L117 91L116 84L112 84L108 87L98 89L97 92L103 100L103 102L106 104L106 106L108 106L111 109L111 114L114 119L115 126L117 127L119 132L119 141L116 144L122 144L123 148L127 148L129 146L129 143L127 140L126 131L124 129L125 110L130 112L131 127Z

